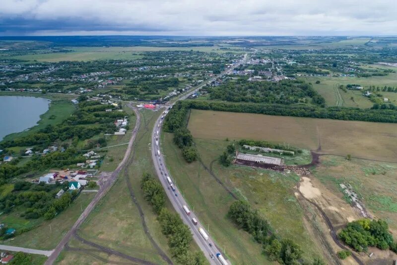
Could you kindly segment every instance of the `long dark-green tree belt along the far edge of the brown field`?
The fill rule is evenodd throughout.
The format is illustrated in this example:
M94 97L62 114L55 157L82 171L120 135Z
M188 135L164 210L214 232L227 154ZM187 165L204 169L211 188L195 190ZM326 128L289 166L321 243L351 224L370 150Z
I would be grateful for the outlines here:
M229 111L242 113L258 113L266 115L307 117L319 119L333 119L345 121L363 121L380 123L397 123L397 111L393 109L359 109L345 107L320 108L307 105L282 105L282 104L252 104L230 102L207 102L199 100L179 101L176 109L198 109L213 111ZM172 114L172 113L170 113ZM167 115L168 116L171 115ZM175 117L176 118L176 117ZM173 127L180 119L170 119L169 126ZM175 124L174 124L175 123Z

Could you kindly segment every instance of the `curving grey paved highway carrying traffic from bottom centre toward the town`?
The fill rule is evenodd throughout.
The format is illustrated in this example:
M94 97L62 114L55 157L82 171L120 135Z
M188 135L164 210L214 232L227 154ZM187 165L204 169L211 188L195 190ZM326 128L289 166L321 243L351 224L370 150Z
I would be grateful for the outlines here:
M236 67L242 63L245 63L246 60L247 60L247 54L245 54L242 61L235 64L234 67ZM165 106L167 113L168 113L168 108L173 106L176 101L184 100L184 99L188 98L190 95L197 92L201 87L203 87L207 83L214 81L216 78L218 78L219 76L223 75L226 72L231 72L234 69L234 67L230 67L229 69L226 69L224 72L220 73L219 75L215 75L214 77L210 78L206 82L203 82L199 86L192 88L187 93L179 96L171 104ZM163 115L165 117L166 114L163 114ZM176 187L176 185L173 181L174 180L173 177L170 175L170 173L167 170L167 167L165 166L164 157L163 157L162 151L160 149L160 139L159 139L160 138L159 136L161 135L161 129L162 129L161 125L163 122L163 119L162 119L163 115L158 117L158 119L156 120L156 123L154 124L153 131L152 131L151 154L152 154L152 159L153 159L153 164L154 164L154 167L156 170L156 174L160 180L161 185L163 186L163 188L165 190L166 195L168 196L169 200L171 201L172 206L178 212L178 214L181 216L183 222L190 227L190 230L193 234L193 239L196 241L197 245L199 246L201 251L204 253L206 259L209 261L209 263L211 265L218 265L218 264L222 265L222 263L218 260L218 258L216 256L217 253L222 254L222 251L219 249L218 246L216 246L213 239L209 235L208 231L206 231L205 226L203 226L202 223L200 223L198 216L193 212L193 210L190 209L189 215L185 212L185 210L183 209L183 205L186 205L189 207L189 204L183 198L181 192L178 190L178 187ZM160 155L158 155L158 153L160 153ZM175 191L173 191L171 189L171 187L167 181L167 176L171 178ZM198 221L197 225L195 225L193 223L192 218L195 218ZM200 234L199 227L201 227L205 231L205 233L208 235L207 240L205 240L203 238L203 236ZM212 247L210 246L210 244L212 245ZM213 259L211 259L211 255L212 255ZM223 258L226 259L224 254L222 254L222 256L223 256ZM228 264L230 264L230 262L228 262Z

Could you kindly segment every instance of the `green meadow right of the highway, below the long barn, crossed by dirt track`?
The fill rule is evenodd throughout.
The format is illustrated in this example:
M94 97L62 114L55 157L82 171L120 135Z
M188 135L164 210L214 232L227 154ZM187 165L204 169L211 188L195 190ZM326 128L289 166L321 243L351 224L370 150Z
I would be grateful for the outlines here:
M217 245L226 250L233 264L271 264L262 254L261 245L251 235L239 230L227 217L234 199L217 181L195 161L188 164L181 150L173 143L173 135L162 135L163 154L176 185L184 194L190 208L195 210ZM195 138L203 163L210 167L213 160L230 142L225 140ZM304 257L311 260L315 249L303 226L302 210L292 192L297 176L249 167L225 168L217 161L212 163L214 174L241 199L246 199L269 220L277 234L300 244Z

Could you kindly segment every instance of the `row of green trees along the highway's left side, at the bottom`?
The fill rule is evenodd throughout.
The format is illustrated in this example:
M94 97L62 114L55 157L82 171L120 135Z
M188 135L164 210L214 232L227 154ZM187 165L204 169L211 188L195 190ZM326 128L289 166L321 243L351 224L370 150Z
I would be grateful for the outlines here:
M167 236L170 252L177 262L186 265L205 264L205 258L201 252L190 250L193 237L189 227L183 223L177 213L173 213L164 207L165 194L161 184L150 174L144 173L141 179L141 189L144 198L158 214L161 230Z

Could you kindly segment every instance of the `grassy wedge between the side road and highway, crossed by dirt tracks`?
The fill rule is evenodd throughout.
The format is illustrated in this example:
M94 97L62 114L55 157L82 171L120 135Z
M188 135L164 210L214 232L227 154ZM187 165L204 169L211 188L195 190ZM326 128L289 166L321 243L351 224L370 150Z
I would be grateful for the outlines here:
M167 245L167 238L162 234L157 221L157 215L144 200L140 190L140 179L143 172L152 173L154 167L151 161L150 142L151 129L155 119L160 114L147 110L140 111L141 125L134 142L134 160L128 167L132 189L136 200L145 215L145 221L151 236L160 248L171 258ZM124 153L123 153L124 154ZM170 203L167 202L167 206ZM81 225L79 235L99 245L112 248L130 256L145 259L156 264L165 264L143 231L141 218L126 185L124 170L108 194L97 204L95 209ZM193 245L193 244L192 244ZM195 245L192 249L197 249ZM70 255L70 254L68 254ZM76 258L76 262L82 260Z

